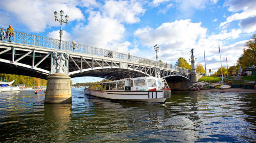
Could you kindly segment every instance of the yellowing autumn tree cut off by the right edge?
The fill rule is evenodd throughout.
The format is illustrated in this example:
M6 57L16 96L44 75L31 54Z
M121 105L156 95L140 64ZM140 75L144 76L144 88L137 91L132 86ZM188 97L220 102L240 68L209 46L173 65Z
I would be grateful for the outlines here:
M241 65L242 69L256 64L256 34L253 34L251 40L247 41L245 46L247 48L243 49L243 54L238 59L238 65Z

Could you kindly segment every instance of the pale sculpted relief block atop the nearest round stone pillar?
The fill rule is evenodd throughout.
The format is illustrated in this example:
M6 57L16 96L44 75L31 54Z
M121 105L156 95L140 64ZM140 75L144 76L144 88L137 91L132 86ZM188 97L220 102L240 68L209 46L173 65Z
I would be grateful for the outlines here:
M51 73L69 73L69 53L52 52Z

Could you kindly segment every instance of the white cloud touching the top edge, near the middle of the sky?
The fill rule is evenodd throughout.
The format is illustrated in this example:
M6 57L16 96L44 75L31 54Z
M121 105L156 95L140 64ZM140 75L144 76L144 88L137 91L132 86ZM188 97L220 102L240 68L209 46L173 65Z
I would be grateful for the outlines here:
M136 23L145 10L136 1L107 1L103 6L103 16L117 19L120 22Z

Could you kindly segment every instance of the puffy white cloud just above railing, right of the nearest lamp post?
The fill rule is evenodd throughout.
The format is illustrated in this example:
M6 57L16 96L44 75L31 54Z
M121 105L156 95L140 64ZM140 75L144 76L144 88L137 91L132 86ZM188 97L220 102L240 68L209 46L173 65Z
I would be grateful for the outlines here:
M76 41L101 47L122 40L125 28L118 20L91 12L88 21L87 25L75 26L73 31Z

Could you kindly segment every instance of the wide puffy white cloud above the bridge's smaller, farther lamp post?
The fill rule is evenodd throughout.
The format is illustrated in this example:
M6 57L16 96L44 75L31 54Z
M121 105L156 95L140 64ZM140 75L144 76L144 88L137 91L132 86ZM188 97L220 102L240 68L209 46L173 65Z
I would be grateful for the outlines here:
M140 39L143 45L161 45L162 49L185 49L195 45L199 37L204 37L207 29L201 27L201 23L190 22L190 19L176 20L163 23L156 29L152 27L139 28L134 35ZM177 45L179 44L179 45Z

